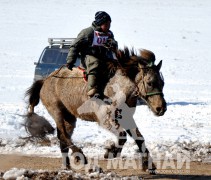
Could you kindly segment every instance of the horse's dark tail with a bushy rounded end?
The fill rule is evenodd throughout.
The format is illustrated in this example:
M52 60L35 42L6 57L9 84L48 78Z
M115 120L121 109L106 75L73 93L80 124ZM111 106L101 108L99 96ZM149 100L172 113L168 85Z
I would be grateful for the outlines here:
M35 81L32 86L26 91L25 96L28 98L28 113L24 116L24 126L26 131L36 138L45 138L47 134L53 134L54 128L42 116L34 113L34 107L39 104L40 90L44 80Z

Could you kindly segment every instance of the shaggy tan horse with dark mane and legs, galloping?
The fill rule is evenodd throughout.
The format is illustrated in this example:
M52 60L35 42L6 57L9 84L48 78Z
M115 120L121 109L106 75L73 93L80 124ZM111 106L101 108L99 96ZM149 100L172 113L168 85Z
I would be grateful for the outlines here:
M88 97L87 83L83 72L79 68L60 68L52 72L46 79L33 82L26 91L28 98L28 112L26 127L29 132L38 132L37 137L44 137L52 133L53 127L43 117L34 112L34 108L41 99L48 113L53 117L57 127L57 137L62 153L62 166L71 168L68 157L69 149L76 161L87 164L87 158L81 148L71 140L77 118L98 124L113 133L117 142L106 145L104 158L120 156L123 145L127 141L127 134L136 142L140 154L143 155L142 167L145 170L155 170L145 140L140 133L134 119L137 100L141 98L156 116L164 115L167 110L164 99L164 79L160 73L162 60L154 64L155 55L152 51L142 49L137 52L125 47L118 50L117 60L108 60L109 75L103 93L104 98ZM36 123L36 125L33 125ZM36 131L35 128L38 128Z

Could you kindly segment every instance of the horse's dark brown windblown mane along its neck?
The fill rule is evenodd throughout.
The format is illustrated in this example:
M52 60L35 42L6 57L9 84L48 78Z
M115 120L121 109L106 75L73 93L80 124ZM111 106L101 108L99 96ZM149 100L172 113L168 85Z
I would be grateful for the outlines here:
M121 69L126 76L134 79L138 73L138 64L146 66L152 66L155 61L155 55L153 52L141 49L139 55L135 52L134 48L129 50L128 47L119 49L116 53L117 61L109 61L109 72L116 72L117 69Z

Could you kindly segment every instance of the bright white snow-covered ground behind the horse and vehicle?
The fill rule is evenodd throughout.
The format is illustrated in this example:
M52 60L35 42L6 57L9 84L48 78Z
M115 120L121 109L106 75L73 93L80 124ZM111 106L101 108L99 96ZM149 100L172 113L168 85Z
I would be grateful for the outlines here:
M24 93L47 38L76 37L99 10L111 15L120 48L146 48L157 63L163 60L167 112L155 117L139 106L134 116L149 150L176 153L186 148L206 155L211 147L210 0L1 0L0 152L60 156L57 143L24 145L19 139L26 136L19 116L26 113ZM55 126L42 105L35 111ZM53 142L55 136L50 138ZM113 136L97 124L78 120L73 140L85 154L102 155L109 139ZM133 156L136 148L129 139L123 154Z

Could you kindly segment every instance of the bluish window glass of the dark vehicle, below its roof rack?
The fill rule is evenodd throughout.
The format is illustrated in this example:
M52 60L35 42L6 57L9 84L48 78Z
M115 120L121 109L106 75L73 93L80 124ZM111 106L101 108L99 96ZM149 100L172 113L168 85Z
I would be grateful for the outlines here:
M57 49L46 49L41 57L41 63L56 64L59 54Z

